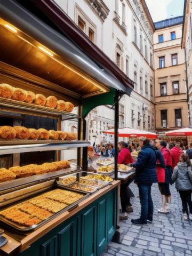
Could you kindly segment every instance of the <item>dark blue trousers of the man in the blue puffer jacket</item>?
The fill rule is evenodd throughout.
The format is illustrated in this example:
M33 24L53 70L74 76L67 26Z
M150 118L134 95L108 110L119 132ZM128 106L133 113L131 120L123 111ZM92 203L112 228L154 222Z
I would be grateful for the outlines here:
M138 184L139 198L141 203L140 220L144 223L147 222L147 219L153 220L154 205L151 197L151 186L152 183Z

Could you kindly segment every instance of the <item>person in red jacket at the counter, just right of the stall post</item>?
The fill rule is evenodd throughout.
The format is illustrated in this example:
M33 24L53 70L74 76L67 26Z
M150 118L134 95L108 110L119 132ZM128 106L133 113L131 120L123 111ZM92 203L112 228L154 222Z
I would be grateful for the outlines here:
M118 143L118 164L132 164L134 163L134 159L131 156L130 150L128 149L127 143L124 141L121 141ZM119 215L119 219L127 219L127 213L126 213L126 206L130 204L130 197L126 196L126 188L129 184L121 184L120 189L120 197L121 197L121 205L122 205L122 213Z

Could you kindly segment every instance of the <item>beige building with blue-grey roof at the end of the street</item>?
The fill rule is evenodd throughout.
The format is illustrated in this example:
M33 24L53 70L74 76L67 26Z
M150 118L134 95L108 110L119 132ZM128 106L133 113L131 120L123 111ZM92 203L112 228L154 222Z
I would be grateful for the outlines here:
M188 126L183 17L155 23L155 120L157 131Z

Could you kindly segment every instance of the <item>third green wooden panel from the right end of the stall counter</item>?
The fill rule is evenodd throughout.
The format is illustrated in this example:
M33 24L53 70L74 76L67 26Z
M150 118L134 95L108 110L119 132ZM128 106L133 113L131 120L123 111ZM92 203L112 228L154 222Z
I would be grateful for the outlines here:
M82 215L82 256L96 255L96 208L92 206Z

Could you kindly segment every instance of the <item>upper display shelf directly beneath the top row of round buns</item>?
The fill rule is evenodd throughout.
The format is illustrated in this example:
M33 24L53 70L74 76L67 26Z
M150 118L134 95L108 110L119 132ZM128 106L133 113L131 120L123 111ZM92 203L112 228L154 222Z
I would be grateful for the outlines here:
M11 100L11 99L4 99L0 97L0 107L2 110L8 110L8 111L22 111L24 113L39 113L44 115L52 115L52 116L60 116L62 115L62 119L68 119L68 118L78 118L78 115L60 111L57 109L47 108L43 106L38 106L35 104L30 104L26 102L21 102L17 100Z

